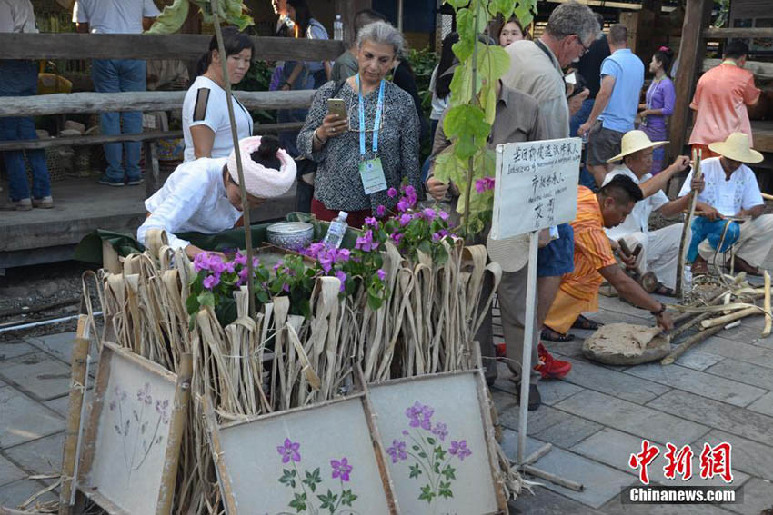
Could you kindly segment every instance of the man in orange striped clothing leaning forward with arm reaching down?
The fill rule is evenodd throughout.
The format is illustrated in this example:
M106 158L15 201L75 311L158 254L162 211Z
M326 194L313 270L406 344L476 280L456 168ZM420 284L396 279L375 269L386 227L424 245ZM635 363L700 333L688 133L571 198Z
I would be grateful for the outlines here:
M577 187L577 218L571 223L575 231L575 270L561 278L556 300L547 313L547 327L564 334L581 313L598 311L598 287L605 279L622 298L651 312L658 326L664 330L674 326L666 305L645 292L617 264L604 232L605 227L623 223L642 198L637 183L626 175L616 175L598 193Z

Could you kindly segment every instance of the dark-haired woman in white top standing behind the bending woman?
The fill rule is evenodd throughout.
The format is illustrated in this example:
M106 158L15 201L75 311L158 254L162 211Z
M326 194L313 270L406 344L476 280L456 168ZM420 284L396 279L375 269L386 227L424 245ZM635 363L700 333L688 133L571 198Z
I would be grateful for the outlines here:
M255 54L252 39L234 27L225 27L223 43L226 47L227 80L230 84L238 84L249 70ZM183 102L185 161L199 157L227 157L234 149L225 87L217 40L212 36L209 51L199 62L199 76L188 88ZM236 96L232 98L239 139L249 137L253 128L252 115L244 104L236 100Z

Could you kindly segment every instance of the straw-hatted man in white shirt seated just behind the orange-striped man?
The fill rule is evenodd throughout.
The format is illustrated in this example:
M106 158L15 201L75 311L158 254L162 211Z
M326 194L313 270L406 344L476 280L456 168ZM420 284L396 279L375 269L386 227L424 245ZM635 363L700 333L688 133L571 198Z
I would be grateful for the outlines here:
M636 204L625 222L607 229L607 236L615 250L620 239L631 249L641 243L639 270L642 273L654 272L660 282L656 293L670 296L674 294L677 284L677 260L683 224L674 223L657 231L650 231L649 215L657 211L671 217L689 208L688 196L670 201L662 189L673 175L688 167L689 158L679 155L673 164L653 177L650 174L653 152L664 144L668 142L651 142L643 131L627 132L621 142L622 152L608 161L621 163L607 173L604 183L608 183L616 175L627 175L644 193L644 200ZM693 184L694 189L700 190L702 187L702 181Z

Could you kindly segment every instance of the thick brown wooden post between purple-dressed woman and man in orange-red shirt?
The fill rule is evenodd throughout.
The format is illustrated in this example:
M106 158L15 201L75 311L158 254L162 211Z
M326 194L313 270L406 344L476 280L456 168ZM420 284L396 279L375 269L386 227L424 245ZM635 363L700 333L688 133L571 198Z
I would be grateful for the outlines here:
M682 152L687 137L688 123L692 118L689 104L695 88L698 70L703 64L706 54L706 40L703 29L708 26L711 0L687 0L685 21L682 25L682 41L679 44L679 67L677 71L676 90L677 102L671 115L669 131L670 155Z

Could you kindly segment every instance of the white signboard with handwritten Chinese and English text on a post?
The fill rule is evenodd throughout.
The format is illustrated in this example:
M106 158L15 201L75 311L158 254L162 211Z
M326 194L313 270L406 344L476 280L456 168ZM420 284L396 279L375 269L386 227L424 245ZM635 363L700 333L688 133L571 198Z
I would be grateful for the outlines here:
M574 220L581 153L580 138L497 145L491 239Z

